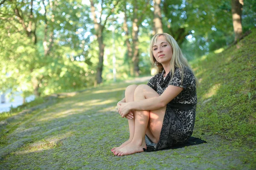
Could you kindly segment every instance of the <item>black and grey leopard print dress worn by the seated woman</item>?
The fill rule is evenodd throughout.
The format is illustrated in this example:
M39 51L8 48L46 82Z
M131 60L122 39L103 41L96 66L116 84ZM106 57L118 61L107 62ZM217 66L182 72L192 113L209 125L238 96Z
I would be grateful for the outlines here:
M193 72L185 67L183 81L181 81L179 68L175 68L172 80L171 72L166 75L165 79L163 78L164 74L164 70L156 74L149 80L147 85L157 91L159 95L161 95L169 85L181 87L183 91L167 104L160 139L157 144L147 144L147 148L150 149L151 147L153 150L161 150L185 143L192 135L195 125L197 95ZM191 107L189 109L177 109L172 107L172 105L175 104L189 104Z

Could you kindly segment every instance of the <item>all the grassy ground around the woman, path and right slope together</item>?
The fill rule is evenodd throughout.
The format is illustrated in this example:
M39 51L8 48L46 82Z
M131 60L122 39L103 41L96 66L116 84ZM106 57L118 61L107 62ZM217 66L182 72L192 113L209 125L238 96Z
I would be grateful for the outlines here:
M116 102L130 83L119 82L12 113L0 125L0 169L255 169L255 34L192 63L201 82L193 136L206 144L113 156L129 136Z

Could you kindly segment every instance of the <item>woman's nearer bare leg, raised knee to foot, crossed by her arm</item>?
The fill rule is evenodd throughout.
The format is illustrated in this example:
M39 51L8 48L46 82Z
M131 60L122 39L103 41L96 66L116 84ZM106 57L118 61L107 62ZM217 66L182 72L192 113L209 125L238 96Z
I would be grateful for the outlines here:
M134 101L156 96L159 96L159 94L148 85L139 85L134 92ZM143 152L143 148L146 148L146 132L151 141L157 143L160 137L165 111L166 106L155 111L135 111L134 137L130 143L117 149L114 154L123 156Z

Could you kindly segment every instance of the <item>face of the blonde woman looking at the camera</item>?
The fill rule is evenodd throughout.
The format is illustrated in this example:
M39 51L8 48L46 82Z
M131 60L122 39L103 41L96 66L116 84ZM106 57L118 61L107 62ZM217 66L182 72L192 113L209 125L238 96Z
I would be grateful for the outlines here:
M157 38L157 42L153 45L153 55L157 62L162 65L168 65L172 59L172 46L166 41L164 36Z

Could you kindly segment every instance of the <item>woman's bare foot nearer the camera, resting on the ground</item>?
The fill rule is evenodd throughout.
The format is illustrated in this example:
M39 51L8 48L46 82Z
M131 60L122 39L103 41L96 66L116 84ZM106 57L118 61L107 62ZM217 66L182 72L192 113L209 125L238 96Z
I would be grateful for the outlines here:
M134 153L143 152L143 148L147 149L145 141L142 144L138 144L137 142L130 142L126 146L120 148L119 150L116 149L114 153L116 156L123 156L123 155L130 155Z

